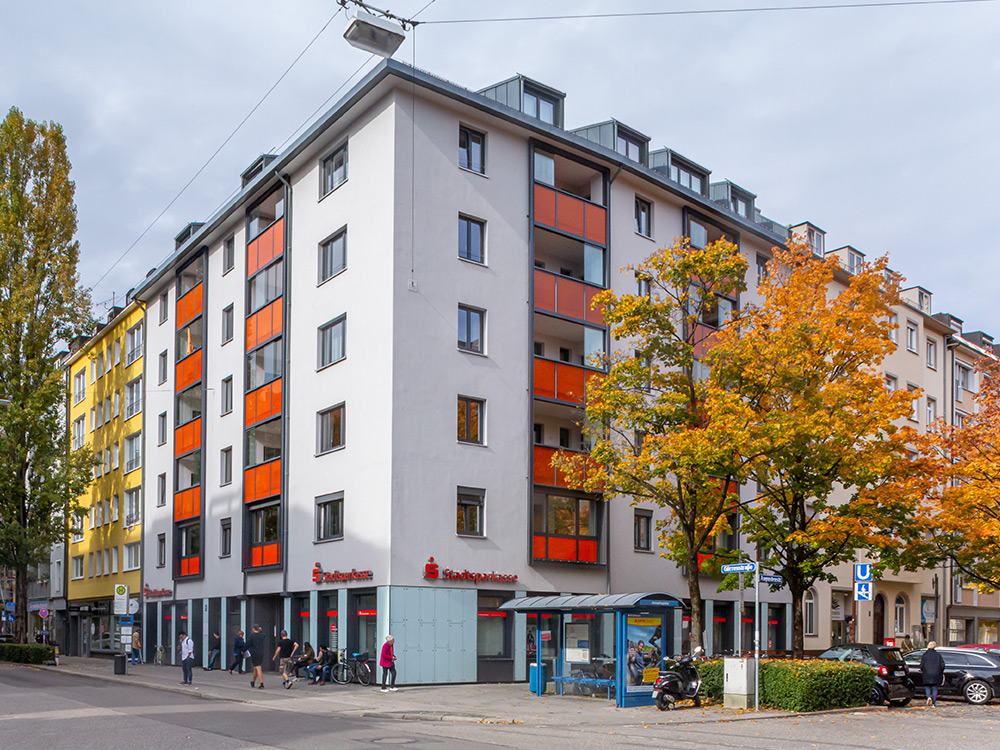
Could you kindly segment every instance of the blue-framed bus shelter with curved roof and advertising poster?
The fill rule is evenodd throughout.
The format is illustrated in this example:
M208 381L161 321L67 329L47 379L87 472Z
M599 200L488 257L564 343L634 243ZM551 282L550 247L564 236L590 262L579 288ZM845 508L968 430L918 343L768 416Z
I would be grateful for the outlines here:
M664 656L681 652L684 603L644 592L511 599L501 610L527 616L532 689L549 680L559 694L610 697L615 705L651 705Z

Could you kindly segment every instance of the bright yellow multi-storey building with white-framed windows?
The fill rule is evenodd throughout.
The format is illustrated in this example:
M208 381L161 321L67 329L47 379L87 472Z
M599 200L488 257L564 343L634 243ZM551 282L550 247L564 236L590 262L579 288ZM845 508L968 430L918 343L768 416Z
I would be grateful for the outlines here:
M94 454L67 540L67 650L121 649L114 586L138 598L142 564L143 318L137 304L112 308L66 360L70 440ZM141 628L139 613L136 627Z

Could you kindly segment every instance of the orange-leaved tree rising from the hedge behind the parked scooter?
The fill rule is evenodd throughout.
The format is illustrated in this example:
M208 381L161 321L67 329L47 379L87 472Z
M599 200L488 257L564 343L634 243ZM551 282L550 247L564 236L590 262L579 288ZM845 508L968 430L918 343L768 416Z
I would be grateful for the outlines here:
M917 494L914 434L897 424L916 394L889 390L882 371L895 347L898 279L882 258L835 288L838 267L794 242L776 248L760 302L744 306L707 356L745 412L738 446L758 494L742 508L741 532L788 586L796 657L806 591L835 580L835 566L859 551L898 544Z

